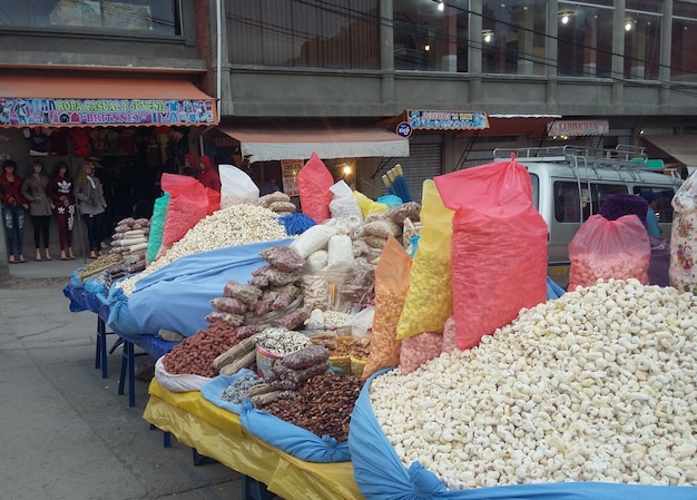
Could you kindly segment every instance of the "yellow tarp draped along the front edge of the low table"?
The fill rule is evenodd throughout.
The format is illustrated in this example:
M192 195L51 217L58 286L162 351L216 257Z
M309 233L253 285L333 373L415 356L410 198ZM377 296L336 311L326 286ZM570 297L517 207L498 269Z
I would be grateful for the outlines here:
M144 418L179 442L266 484L285 499L361 500L351 462L312 463L296 459L249 434L239 416L216 406L199 392L166 391L153 379Z

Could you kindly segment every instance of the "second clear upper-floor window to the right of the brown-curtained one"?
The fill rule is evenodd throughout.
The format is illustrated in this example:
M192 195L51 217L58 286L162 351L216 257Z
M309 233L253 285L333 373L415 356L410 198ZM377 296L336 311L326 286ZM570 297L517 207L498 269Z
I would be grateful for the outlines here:
M482 71L546 75L547 1L484 0Z

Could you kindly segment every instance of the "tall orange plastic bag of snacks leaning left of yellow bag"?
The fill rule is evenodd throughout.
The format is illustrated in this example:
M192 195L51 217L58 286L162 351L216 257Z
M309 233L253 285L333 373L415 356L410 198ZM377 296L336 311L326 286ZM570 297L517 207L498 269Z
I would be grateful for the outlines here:
M363 379L400 363L401 341L396 340L395 333L404 297L409 291L411 267L412 259L409 254L393 236L390 236L375 268L375 316L371 353L363 369Z

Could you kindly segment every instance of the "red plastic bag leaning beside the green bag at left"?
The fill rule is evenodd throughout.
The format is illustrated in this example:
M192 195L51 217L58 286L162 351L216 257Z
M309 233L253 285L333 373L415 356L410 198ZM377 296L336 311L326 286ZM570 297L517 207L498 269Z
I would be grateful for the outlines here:
M165 173L161 188L169 193L169 204L158 256L171 248L171 245L208 214L206 188L194 177Z

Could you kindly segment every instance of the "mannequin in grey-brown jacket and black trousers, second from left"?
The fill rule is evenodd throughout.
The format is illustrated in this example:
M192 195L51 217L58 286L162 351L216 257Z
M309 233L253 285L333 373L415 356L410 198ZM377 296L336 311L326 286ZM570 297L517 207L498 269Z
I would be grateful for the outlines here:
M31 176L27 177L22 183L22 196L29 202L29 216L33 226L33 244L37 248L37 261L41 257L41 239L43 239L45 258L51 259L48 249L49 245L49 226L51 224L51 212L53 203L48 196L49 178L43 173L43 163L35 159L31 161Z

